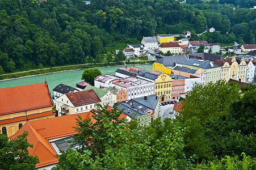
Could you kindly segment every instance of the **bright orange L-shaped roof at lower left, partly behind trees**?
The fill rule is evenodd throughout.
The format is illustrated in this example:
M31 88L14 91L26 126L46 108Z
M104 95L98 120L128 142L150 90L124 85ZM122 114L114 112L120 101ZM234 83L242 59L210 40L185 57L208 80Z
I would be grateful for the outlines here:
M112 108L108 106L107 109ZM92 118L93 113L91 112L30 121L24 124L10 139L15 139L18 135L23 134L24 131L28 131L28 143L33 145L33 148L29 147L28 151L32 156L37 155L40 161L39 164L36 164L36 168L58 163L58 159L55 157L57 153L48 140L77 134L77 131L74 131L75 129L72 127L77 125L75 118L78 118L78 115L82 119L90 117L91 122L96 122ZM126 115L121 114L120 118L123 117L126 117Z

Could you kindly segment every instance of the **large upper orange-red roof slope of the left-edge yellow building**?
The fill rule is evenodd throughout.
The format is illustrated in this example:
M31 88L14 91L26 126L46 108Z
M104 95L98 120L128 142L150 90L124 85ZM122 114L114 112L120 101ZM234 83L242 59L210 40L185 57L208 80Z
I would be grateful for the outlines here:
M0 88L0 94L0 115L53 106L47 83Z

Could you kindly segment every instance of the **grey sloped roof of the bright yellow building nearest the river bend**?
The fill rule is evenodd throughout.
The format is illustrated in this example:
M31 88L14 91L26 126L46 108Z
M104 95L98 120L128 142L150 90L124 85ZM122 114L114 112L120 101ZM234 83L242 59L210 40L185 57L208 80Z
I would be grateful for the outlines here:
M180 56L165 56L158 59L156 62L163 64L165 67L174 67L176 63L183 64L187 61L185 54Z

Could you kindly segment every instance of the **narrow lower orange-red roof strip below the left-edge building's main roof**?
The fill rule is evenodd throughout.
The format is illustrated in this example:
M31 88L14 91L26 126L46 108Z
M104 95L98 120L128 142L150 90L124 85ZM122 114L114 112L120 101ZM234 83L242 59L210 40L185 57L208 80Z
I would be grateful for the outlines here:
M44 112L44 113L31 114L31 115L28 115L28 116L14 117L14 118L6 119L6 120L1 120L0 125L11 124L13 122L31 120L33 118L39 118L39 117L51 116L51 115L54 115L54 113L52 111Z

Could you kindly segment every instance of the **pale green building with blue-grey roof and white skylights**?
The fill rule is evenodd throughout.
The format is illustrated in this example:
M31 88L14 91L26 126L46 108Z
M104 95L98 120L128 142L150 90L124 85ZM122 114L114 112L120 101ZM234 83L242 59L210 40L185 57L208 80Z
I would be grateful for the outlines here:
M183 67L194 70L202 69L206 74L205 84L209 82L216 83L217 80L220 80L221 67L211 61L190 58L183 64Z

